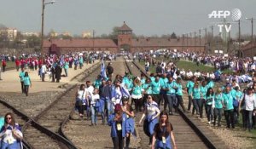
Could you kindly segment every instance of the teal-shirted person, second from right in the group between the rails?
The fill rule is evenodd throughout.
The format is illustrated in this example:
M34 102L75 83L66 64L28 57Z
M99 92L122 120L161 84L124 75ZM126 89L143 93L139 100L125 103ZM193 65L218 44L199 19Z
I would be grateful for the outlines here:
M166 83L166 96L167 96L167 100L168 100L168 108L169 108L169 115L173 115L172 113L172 107L173 107L173 103L176 101L176 90L174 89L175 85L175 81L173 81L172 77L169 77L169 81Z

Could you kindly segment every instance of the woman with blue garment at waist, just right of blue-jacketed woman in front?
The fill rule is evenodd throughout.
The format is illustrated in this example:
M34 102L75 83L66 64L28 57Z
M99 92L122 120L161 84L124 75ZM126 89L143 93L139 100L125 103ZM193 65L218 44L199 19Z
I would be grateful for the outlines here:
M126 114L126 121L125 121L125 148L129 148L130 146L130 140L131 140L131 134L136 136L135 132L135 121L133 119L134 117L134 112L131 107L131 105L128 104L129 98L127 97L122 97L122 111Z

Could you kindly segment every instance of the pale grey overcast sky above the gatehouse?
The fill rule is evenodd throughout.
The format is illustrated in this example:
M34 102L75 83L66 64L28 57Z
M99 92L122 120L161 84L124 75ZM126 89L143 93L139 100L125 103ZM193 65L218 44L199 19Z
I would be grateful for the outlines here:
M51 0L45 0L50 2ZM81 32L95 30L96 35L112 32L113 26L123 21L137 35L162 35L176 32L198 32L219 22L209 19L212 10L241 10L241 33L251 32L246 17L256 18L256 0L56 0L45 8L45 34L56 32ZM15 27L21 32L40 32L41 0L1 0L0 23ZM230 19L230 18L229 18ZM256 24L256 20L254 21ZM232 25L236 35L238 26ZM254 26L255 28L255 26ZM256 28L255 28L256 29ZM254 29L254 31L256 31ZM210 28L208 27L210 31ZM214 27L218 33L218 27ZM255 33L256 34L256 33Z

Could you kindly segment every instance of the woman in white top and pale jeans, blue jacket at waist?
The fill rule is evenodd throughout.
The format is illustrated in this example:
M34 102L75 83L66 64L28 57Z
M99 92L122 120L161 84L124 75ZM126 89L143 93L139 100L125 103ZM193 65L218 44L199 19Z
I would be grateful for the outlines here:
M91 112L91 126L94 126L97 124L97 108L99 107L99 101L100 101L100 95L98 94L99 90L94 89L91 95L90 100L90 112Z

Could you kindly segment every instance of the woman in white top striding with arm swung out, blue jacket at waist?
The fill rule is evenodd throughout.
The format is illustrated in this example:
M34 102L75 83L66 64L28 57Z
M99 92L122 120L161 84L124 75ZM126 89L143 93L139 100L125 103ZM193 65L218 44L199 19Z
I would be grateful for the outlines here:
M139 123L144 120L144 131L149 136L149 145L152 146L152 138L154 135L154 125L158 123L157 117L160 115L160 109L157 103L153 100L152 95L148 95L148 103L146 104L145 111L141 117Z

